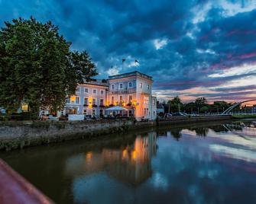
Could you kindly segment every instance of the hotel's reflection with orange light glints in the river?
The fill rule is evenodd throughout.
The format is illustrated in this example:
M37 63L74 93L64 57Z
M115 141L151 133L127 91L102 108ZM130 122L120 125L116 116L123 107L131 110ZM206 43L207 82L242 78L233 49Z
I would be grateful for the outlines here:
M138 135L132 145L87 151L66 162L72 177L105 171L110 177L138 185L151 176L151 158L157 152L157 133Z

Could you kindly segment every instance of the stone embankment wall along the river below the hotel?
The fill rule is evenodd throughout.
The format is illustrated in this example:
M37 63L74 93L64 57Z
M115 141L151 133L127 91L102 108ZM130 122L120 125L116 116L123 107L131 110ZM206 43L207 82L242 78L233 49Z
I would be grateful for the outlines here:
M8 121L0 123L0 151L47 145L73 139L91 139L99 135L128 132L133 129L147 129L154 126L176 126L183 123L187 125L232 119L232 116L198 116L157 122L136 122L133 120Z

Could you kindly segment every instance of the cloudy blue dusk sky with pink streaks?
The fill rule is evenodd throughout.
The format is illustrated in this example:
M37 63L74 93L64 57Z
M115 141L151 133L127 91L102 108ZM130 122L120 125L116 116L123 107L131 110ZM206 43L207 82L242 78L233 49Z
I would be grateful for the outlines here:
M160 100L256 99L255 0L0 0L1 27L31 15L87 50L97 78L143 72Z

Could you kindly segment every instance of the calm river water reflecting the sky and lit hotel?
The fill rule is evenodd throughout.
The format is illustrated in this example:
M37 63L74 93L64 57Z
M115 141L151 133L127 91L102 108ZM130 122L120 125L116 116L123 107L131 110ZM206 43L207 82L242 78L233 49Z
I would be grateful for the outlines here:
M0 153L57 203L256 203L256 122Z

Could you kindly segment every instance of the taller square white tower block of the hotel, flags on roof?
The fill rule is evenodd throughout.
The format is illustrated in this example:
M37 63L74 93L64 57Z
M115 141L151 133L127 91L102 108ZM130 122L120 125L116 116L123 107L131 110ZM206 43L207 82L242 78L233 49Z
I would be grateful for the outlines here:
M140 72L109 76L109 106L122 105L137 120L155 120L157 101L152 97L152 84L152 77Z

